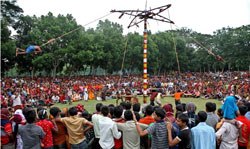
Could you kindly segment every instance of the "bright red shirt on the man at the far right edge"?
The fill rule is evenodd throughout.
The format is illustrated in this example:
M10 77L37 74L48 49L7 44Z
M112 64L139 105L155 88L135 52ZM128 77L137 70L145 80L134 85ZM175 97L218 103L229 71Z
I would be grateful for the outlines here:
M238 140L238 144L240 146L247 146L248 145L248 138L249 138L249 134L250 134L250 121L245 117L245 116L239 116L236 118L236 120L242 122L242 137L246 140L246 143L241 143Z

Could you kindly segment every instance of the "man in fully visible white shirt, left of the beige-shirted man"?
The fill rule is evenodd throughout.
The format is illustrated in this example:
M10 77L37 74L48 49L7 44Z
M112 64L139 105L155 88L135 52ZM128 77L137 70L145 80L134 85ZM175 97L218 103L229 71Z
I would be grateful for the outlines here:
M99 144L103 149L111 149L115 145L114 138L121 138L121 132L118 131L116 123L108 117L110 115L108 106L103 106L101 113L103 117L101 117L99 120Z

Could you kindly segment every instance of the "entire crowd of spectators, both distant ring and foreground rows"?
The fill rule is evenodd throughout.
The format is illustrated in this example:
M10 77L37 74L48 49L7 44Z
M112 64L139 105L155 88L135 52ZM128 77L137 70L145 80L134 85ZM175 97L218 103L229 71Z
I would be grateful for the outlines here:
M134 75L2 78L1 148L247 148L249 77L239 72L152 76L148 90L151 102L143 105L126 100L130 95L142 95L142 79ZM123 95L125 102L98 103L93 114L80 104L69 109L44 107ZM175 105L161 105L156 100L159 95L173 95ZM223 106L216 111L216 104L207 102L203 111L196 111L194 103L180 102L183 95L223 99Z

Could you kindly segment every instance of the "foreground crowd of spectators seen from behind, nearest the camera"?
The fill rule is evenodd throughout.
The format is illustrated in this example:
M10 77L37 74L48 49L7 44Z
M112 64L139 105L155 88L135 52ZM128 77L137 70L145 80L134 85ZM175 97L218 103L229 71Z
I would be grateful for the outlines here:
M196 111L192 102L177 103L175 113L171 104L130 102L98 103L93 114L80 104L49 110L26 106L13 113L1 108L1 148L247 149L250 102L227 96L217 111L212 102L204 109Z

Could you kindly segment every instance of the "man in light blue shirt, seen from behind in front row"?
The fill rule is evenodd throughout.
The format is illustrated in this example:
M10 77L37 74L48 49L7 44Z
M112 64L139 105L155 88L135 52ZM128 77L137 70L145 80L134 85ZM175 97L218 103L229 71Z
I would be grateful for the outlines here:
M198 113L199 124L191 129L192 149L215 149L215 131L206 124L207 113L200 111Z

